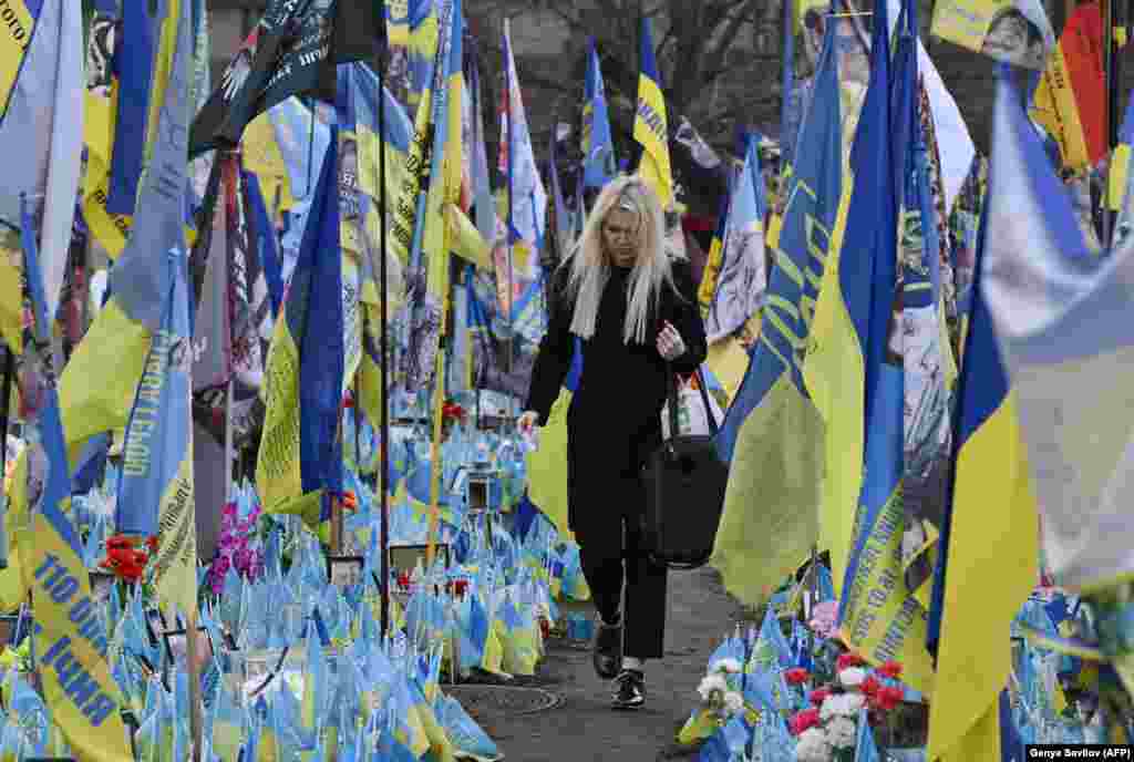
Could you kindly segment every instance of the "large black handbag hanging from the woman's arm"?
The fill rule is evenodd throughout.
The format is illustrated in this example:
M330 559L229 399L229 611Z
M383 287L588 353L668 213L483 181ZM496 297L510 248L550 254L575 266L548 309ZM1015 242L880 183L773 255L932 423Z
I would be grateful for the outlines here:
M717 454L718 423L700 371L697 387L711 434L677 433L677 378L672 369L669 371L670 437L642 467L645 484L643 550L658 565L695 569L712 554L725 509L728 464Z

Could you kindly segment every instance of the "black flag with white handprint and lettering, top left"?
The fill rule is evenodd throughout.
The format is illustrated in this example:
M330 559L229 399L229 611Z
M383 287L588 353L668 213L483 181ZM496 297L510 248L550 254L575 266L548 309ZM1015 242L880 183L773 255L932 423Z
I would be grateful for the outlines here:
M271 0L193 121L189 158L235 147L245 126L293 95L335 102L335 65L386 44L381 5L359 0Z

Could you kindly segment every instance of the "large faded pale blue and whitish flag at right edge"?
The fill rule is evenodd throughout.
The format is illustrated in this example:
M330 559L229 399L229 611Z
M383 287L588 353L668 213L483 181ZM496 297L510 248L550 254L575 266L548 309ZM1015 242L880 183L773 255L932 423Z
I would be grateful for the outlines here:
M1134 576L1134 242L1091 255L1013 96L998 105L984 298L1018 400L1044 558L1059 585L1093 592Z

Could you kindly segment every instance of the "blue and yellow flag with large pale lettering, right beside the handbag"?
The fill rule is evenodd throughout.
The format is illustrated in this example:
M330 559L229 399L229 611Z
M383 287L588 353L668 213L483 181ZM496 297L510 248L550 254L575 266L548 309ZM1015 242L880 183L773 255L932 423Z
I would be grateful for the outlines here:
M797 568L819 532L823 425L803 367L843 190L837 67L829 27L801 137L809 151L785 170L782 228L769 240L760 340L717 440L731 466L712 564L750 604Z

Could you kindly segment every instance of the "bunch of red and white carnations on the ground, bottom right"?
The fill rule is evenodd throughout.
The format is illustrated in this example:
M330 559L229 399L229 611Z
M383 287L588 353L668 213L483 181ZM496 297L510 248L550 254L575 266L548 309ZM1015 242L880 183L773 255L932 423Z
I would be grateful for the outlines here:
M811 708L792 717L789 727L798 738L798 762L854 759L861 719L868 718L872 726L882 723L905 697L905 691L897 683L902 674L902 664L897 662L890 661L871 670L862 658L844 653L836 669L833 683L815 687L807 694ZM810 677L799 668L785 675L788 684L801 688Z

